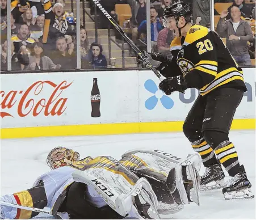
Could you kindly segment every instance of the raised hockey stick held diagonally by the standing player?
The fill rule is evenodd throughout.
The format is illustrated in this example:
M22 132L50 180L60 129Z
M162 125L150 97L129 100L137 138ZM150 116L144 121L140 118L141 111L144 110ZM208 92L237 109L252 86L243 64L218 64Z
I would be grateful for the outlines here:
M158 73L157 69L150 64L150 62L148 61L148 59L144 56L144 54L141 52L141 50L136 46L135 43L133 43L133 41L127 36L127 34L123 31L123 29L119 26L119 24L117 24L115 22L115 20L112 18L112 16L110 14L108 14L108 12L102 7L102 5L100 5L100 3L97 0L93 0L93 2L95 3L95 5L102 11L102 13L108 18L108 20L115 26L115 28L117 29L117 31L119 31L119 33L121 34L121 36L124 37L124 39L128 42L129 45L132 46L132 49L135 50L135 52L140 56L141 60L145 63L145 65L154 72L154 74L156 74L156 76L163 81L163 79L165 79L165 77L163 77L163 75L161 75L160 73Z

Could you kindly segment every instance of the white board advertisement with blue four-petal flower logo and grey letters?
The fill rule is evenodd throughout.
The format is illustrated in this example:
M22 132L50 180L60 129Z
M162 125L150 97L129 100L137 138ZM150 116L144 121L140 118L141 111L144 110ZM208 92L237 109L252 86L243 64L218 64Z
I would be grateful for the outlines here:
M237 108L235 119L255 119L255 69L244 69L247 92ZM184 121L198 90L189 88L185 94L174 92L166 96L158 89L159 79L149 71L139 74L140 86L140 122L150 121Z

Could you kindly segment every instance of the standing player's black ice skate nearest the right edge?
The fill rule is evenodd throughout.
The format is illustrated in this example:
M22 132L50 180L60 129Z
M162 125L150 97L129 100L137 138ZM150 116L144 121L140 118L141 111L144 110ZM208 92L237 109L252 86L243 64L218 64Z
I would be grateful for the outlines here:
M223 194L225 200L254 198L244 165L241 165L240 172L229 180L228 186L223 189Z

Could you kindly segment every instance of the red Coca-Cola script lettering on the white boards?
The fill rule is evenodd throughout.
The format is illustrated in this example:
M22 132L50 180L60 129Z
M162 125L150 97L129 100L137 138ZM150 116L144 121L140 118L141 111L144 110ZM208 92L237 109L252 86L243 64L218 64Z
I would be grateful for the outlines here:
M60 116L67 108L68 98L62 98L64 92L71 83L62 81L56 84L52 81L37 81L26 90L1 91L1 112L4 117L26 116ZM49 91L49 92L48 92ZM47 96L41 96L45 92ZM15 111L14 111L15 109Z

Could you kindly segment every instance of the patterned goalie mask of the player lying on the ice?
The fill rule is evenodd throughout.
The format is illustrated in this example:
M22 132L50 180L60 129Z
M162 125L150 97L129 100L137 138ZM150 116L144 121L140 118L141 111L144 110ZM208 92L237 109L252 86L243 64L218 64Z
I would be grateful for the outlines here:
M47 164L52 170L74 163L79 160L80 154L77 151L55 147L47 156Z

